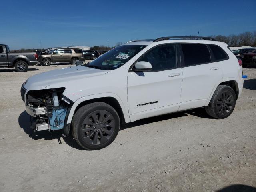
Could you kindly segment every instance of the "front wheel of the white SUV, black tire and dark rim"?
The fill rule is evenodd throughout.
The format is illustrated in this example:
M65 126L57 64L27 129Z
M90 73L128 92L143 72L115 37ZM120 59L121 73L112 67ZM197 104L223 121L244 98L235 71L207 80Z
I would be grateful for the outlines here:
M103 102L82 106L72 120L73 137L86 150L98 150L108 146L115 140L119 128L118 113Z

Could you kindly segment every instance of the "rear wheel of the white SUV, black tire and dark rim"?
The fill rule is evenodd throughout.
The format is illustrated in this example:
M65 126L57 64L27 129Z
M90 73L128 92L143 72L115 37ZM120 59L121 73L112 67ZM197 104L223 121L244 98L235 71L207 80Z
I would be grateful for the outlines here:
M236 106L236 93L227 85L219 85L209 103L206 112L213 118L224 119L230 116Z

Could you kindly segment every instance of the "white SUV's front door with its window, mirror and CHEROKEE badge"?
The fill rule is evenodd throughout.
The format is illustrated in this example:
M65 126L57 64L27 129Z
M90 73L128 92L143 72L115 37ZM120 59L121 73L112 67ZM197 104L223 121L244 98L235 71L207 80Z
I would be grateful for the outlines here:
M152 70L134 72L131 69L128 73L131 121L178 110L182 70L177 58L176 44L164 44L150 49L136 61L150 62Z

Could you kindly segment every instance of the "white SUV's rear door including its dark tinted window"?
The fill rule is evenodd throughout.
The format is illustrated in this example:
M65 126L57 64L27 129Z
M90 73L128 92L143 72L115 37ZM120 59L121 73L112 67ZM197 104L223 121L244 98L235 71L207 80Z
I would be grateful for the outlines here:
M214 87L222 82L219 62L211 62L206 44L180 44L183 82L180 110L204 106Z

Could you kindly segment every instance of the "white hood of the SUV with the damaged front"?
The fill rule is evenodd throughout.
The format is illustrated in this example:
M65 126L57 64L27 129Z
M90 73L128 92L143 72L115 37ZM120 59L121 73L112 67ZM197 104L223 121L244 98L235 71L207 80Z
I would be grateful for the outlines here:
M82 81L85 78L105 74L107 72L109 71L85 66L66 67L34 75L26 80L24 87L28 90L40 90L50 85L54 86L54 84L63 84L62 87L65 87L65 84L72 80Z

